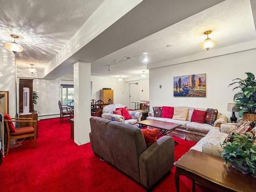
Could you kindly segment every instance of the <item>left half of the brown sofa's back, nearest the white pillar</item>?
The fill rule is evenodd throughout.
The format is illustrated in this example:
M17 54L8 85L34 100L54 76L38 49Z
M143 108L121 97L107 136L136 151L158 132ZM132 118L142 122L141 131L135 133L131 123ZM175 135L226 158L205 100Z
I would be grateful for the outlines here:
M111 160L111 156L109 154L108 133L106 131L106 126L109 122L111 122L111 120L100 117L90 118L94 153L104 158L106 161Z

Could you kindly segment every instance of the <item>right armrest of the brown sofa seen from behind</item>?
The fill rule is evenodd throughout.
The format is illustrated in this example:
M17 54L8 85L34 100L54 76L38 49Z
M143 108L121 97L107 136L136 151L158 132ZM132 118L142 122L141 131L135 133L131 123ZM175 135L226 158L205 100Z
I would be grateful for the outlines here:
M139 157L141 184L151 188L174 166L174 139L163 136Z

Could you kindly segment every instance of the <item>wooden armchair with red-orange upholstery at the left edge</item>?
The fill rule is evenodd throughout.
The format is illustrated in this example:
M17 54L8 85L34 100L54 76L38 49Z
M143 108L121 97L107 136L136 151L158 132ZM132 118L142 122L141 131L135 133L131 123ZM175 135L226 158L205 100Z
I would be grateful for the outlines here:
M12 120L4 120L5 122L5 133L7 136L6 139L6 155L9 152L10 139L20 139L20 138L31 138L34 139L34 148L36 148L36 132L37 132L37 121L33 120L33 118L11 118ZM21 123L21 122L29 122L33 123L33 126L27 127L19 127L15 129L15 133L10 132L9 122Z

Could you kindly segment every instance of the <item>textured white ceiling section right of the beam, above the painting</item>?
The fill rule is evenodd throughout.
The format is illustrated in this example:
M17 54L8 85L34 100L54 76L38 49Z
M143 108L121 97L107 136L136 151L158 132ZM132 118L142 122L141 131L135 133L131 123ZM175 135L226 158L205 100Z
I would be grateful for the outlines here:
M148 53L148 63L205 52L199 44L206 38L203 32L209 29L212 30L210 37L217 41L217 46L211 50L255 39L250 1L227 0L188 17L93 62L92 74L138 76L146 69L142 62L143 52ZM166 47L168 44L172 47ZM123 60L124 56L132 56L133 59ZM114 62L115 59L119 61ZM111 72L108 72L107 65L112 65Z

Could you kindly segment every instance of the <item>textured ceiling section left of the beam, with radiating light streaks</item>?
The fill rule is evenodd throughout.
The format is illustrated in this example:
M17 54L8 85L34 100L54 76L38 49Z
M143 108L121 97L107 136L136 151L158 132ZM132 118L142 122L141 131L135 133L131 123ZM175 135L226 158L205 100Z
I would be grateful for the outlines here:
M17 66L35 64L38 73L83 25L103 0L0 0L0 46L12 41L10 33L23 36ZM18 72L25 72L18 70ZM25 72L26 73L26 72Z

